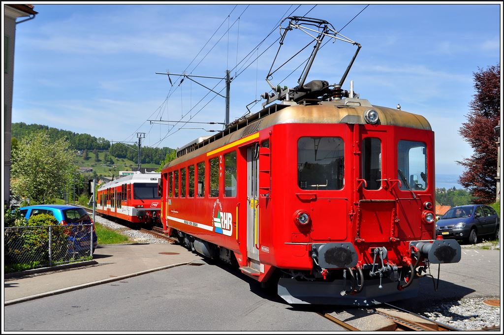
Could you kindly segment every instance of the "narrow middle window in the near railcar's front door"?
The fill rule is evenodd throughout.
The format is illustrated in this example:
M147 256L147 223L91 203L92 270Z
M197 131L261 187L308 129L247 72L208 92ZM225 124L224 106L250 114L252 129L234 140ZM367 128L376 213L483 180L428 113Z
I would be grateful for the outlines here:
M367 137L362 140L362 179L365 189L382 187L382 141Z

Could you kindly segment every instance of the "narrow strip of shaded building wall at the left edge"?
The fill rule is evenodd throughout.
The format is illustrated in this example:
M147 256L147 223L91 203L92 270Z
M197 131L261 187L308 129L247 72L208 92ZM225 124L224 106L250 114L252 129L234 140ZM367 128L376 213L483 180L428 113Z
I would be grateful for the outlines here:
M14 82L14 45L16 38L16 18L4 16L4 42L7 44L7 61L4 62L4 204L9 203L11 186L11 123L12 88Z

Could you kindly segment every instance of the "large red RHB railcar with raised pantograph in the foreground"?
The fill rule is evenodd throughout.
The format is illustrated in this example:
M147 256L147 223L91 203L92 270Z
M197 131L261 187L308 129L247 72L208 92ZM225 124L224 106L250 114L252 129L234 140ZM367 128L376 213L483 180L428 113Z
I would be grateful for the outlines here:
M294 28L316 43L298 85L271 84L272 65L267 107L184 146L163 167L164 229L259 282L278 283L289 303L415 297L415 277L432 263L458 262L461 252L454 240L434 239L430 124L359 99L353 85L342 90L360 44L327 21L287 19L280 46ZM357 51L339 84L305 84L324 36Z

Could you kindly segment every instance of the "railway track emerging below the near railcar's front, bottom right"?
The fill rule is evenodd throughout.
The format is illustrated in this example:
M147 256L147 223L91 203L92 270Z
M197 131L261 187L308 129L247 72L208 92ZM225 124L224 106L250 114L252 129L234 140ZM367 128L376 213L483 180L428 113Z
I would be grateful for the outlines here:
M390 304L380 306L382 307L318 312L318 314L350 331L464 331ZM472 329L472 331L499 330L500 326Z

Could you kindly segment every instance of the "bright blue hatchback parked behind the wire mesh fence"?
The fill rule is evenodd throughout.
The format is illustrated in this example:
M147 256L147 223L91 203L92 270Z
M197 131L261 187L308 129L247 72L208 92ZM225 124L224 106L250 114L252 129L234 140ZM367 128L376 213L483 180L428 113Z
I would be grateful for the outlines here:
M61 225L92 224L93 252L98 246L98 237L96 236L93 220L91 220L86 210L82 207L73 205L32 205L21 207L19 211L24 214L26 220L34 215L49 214L55 217ZM87 236L89 236L89 230L86 235L76 235L75 237L79 237L79 243L76 244L76 247L79 249L87 247L89 249L89 237L86 238ZM73 239L75 237L74 235L70 235L69 239Z

